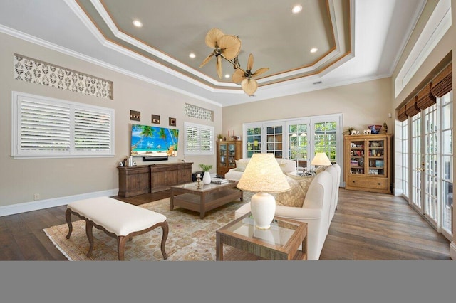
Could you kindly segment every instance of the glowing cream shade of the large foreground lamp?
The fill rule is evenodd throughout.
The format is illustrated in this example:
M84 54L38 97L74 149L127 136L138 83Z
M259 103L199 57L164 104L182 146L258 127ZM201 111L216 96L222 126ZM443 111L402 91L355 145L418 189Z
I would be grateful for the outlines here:
M289 191L290 185L274 154L254 154L242 173L237 188L256 193L279 193Z

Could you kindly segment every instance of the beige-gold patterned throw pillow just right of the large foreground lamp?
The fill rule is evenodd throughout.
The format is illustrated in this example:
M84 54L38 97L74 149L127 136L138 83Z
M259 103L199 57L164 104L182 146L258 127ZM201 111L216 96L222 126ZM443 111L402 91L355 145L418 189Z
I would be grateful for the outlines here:
M307 190L314 177L300 177L286 173L285 178L290 184L291 189L275 194L276 205L302 207Z

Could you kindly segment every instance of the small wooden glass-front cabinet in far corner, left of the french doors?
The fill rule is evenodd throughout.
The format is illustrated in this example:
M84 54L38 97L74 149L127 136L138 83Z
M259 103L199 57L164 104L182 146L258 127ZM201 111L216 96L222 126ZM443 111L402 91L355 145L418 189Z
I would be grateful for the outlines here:
M224 177L242 158L242 141L217 141L217 175Z

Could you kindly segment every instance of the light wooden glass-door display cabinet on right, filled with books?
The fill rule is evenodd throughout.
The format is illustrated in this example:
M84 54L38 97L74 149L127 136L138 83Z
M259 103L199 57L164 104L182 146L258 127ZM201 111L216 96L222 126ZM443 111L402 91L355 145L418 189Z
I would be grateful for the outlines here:
M391 193L391 134L343 137L345 188Z

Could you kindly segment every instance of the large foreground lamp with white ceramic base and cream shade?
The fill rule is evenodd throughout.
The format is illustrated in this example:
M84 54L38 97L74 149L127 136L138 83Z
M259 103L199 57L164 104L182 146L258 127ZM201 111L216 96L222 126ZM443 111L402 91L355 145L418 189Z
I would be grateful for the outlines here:
M250 208L257 228L268 229L276 213L276 199L269 193L289 191L274 154L254 154L247 164L237 188L256 192L250 200Z

